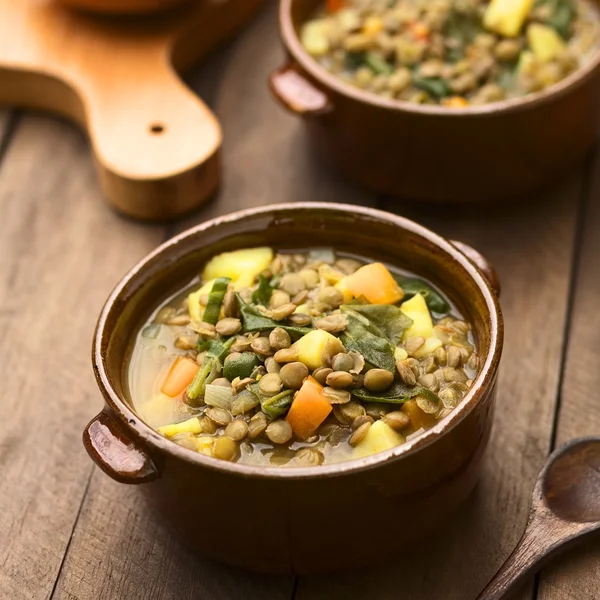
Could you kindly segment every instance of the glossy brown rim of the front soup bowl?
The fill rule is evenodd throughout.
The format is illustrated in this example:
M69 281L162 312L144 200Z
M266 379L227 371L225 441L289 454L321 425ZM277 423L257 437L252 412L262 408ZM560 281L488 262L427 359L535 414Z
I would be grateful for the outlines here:
M111 338L111 331L109 331L107 321L113 311L116 311L116 304L122 299L122 295L126 293L129 288L137 290L143 286L147 279L144 269L150 265L152 261L161 255L168 255L179 244L185 243L190 238L195 237L199 242L198 245L201 245L201 236L198 234L203 231L211 228L218 228L228 223L243 221L248 217L253 216L269 214L275 216L278 213L288 213L286 216L290 216L290 212L294 213L297 211L310 210L318 210L321 213L329 212L332 214L351 213L352 215L359 215L367 221L383 221L388 225L391 224L398 229L409 231L424 238L436 248L441 249L446 254L450 255L454 261L459 264L460 268L466 272L479 288L487 307L487 315L484 315L484 318L489 320L490 325L490 350L480 372L473 382L473 386L461 400L459 405L449 415L418 437L377 454L329 465L281 468L232 463L206 456L201 453L194 453L193 451L179 446L175 442L161 436L157 431L142 421L140 416L123 398L121 398L111 385L105 356L105 354L108 354L109 352L108 342ZM449 430L454 429L454 427L456 427L456 425L472 411L480 399L493 387L502 353L503 340L504 324L496 294L475 263L473 263L450 241L414 221L386 211L351 204L297 202L248 208L210 219L183 231L147 254L121 279L106 300L94 333L92 363L98 386L100 387L109 408L117 414L125 428L133 430L135 438L150 446L151 450L165 452L166 454L175 456L185 462L242 477L252 476L261 479L320 479L336 475L341 476L349 472L366 471L381 466L390 460L395 461L410 456L431 445ZM104 349L106 349L106 352ZM150 452L150 455L153 455L152 451Z

